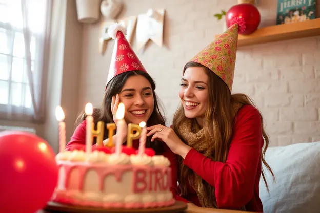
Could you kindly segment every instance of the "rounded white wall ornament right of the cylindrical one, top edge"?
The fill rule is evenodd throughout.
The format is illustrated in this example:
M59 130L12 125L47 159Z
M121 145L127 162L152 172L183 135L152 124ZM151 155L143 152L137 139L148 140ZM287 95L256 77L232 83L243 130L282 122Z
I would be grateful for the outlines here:
M109 19L116 19L123 9L123 4L117 0L103 0L100 5L102 15Z

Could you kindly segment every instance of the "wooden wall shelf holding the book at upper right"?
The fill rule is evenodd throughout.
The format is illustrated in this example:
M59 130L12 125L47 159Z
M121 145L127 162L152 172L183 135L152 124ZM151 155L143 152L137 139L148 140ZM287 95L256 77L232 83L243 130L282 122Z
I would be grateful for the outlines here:
M320 18L299 23L258 28L250 35L239 35L238 47L317 35L320 35ZM215 37L218 36L216 35Z

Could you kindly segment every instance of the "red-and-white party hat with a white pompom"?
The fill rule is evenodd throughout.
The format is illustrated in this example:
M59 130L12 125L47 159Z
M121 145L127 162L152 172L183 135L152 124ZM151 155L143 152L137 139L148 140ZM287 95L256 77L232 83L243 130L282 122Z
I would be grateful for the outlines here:
M125 37L126 28L124 26L115 23L109 27L108 34L115 40L115 44L110 61L106 89L109 81L121 73L135 70L147 72Z

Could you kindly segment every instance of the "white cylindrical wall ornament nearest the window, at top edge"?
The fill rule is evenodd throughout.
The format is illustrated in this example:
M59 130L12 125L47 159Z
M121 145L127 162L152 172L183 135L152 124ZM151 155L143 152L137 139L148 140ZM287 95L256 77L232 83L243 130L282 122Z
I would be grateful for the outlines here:
M100 18L101 0L76 0L78 21L85 24L95 23Z

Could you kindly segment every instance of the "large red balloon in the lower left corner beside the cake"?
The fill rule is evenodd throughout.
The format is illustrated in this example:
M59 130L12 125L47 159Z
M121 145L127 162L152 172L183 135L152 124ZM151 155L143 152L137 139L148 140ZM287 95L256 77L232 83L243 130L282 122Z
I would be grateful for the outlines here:
M0 132L0 212L34 213L50 200L58 180L55 153L26 132Z

